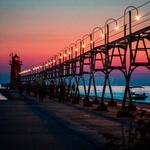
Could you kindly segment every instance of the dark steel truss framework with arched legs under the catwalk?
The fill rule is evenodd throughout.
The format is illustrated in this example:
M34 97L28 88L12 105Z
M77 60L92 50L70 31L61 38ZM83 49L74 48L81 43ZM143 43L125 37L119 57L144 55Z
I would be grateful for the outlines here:
M25 74L21 76L22 82L29 83L35 80L45 80L50 79L54 80L59 78L60 80L64 80L64 78L69 78L69 82L71 83L72 78L75 78L76 88L75 88L75 97L80 97L79 91L79 82L82 80L83 88L85 92L85 96L89 99L90 90L93 82L95 100L97 99L97 89L95 84L95 72L101 71L105 74L103 91L101 97L101 104L104 104L104 95L106 92L106 86L108 85L111 100L113 101L113 92L111 88L109 74L112 70L118 69L124 72L126 85L125 92L122 102L122 110L125 109L127 97L129 97L129 105L132 105L131 93L130 93L130 78L136 67L143 66L147 67L150 70L150 26L140 29L134 33L131 32L131 12L129 11L129 35L126 35L116 41L112 41L106 43L104 45L98 47L91 47L86 53L81 54L78 57L72 58L60 64L52 65L50 68L43 68L43 70L35 73L30 72L29 74ZM130 64L127 69L126 63L128 56L127 47L129 47L130 54ZM143 53L145 55L144 62L138 61L137 56L138 53ZM97 57L99 54L99 58ZM120 65L112 65L113 59L119 59ZM89 60L88 62L86 60ZM96 62L101 62L102 67L96 68ZM85 71L85 66L90 67L90 71ZM79 70L79 71L78 71ZM89 74L89 83L88 88L86 88L85 77L84 74Z

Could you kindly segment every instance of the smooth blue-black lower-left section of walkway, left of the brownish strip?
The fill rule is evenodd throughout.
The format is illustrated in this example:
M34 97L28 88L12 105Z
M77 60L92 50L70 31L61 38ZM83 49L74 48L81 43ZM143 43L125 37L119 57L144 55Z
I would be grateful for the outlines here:
M65 120L27 98L0 101L0 150L97 150Z

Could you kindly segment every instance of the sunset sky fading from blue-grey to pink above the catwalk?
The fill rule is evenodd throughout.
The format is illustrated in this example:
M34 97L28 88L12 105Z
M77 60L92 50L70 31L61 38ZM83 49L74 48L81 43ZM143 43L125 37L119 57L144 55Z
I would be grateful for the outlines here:
M9 54L22 68L46 61L70 43L147 0L0 0L0 83L9 82Z

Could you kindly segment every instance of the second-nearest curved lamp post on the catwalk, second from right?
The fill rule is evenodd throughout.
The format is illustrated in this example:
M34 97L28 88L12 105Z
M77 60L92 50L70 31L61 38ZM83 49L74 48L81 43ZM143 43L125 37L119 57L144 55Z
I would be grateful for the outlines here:
M108 18L105 22L105 44L109 43L109 22L110 21L115 22L115 24L116 24L115 29L118 30L117 20L114 18Z

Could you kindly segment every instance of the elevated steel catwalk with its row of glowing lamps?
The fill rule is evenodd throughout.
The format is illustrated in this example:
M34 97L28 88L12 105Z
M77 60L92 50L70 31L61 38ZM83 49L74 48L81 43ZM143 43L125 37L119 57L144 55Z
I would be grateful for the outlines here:
M104 105L106 86L109 87L111 95L108 105L117 105L114 101L110 75L118 70L125 80L120 115L126 115L124 114L126 109L135 110L130 91L131 77L139 67L150 70L150 12L146 12L145 9L149 8L149 5L150 3L147 2L138 7L128 6L123 16L118 19L108 18L103 27L95 27L91 33L71 43L46 62L21 71L19 84L32 92L40 84L45 84L47 88L53 86L56 95L63 93L60 87L65 86L69 90L64 92L68 92L67 97L73 103L79 103L81 98L79 85L82 84L85 95L84 105L92 106L93 103L99 103L97 110L105 111L107 110L107 106ZM143 57L139 59L141 55ZM98 72L104 74L100 100L97 97L95 84L95 74ZM88 88L85 83L87 76ZM89 100L91 87L94 87L92 102ZM129 103L126 108L127 99Z

